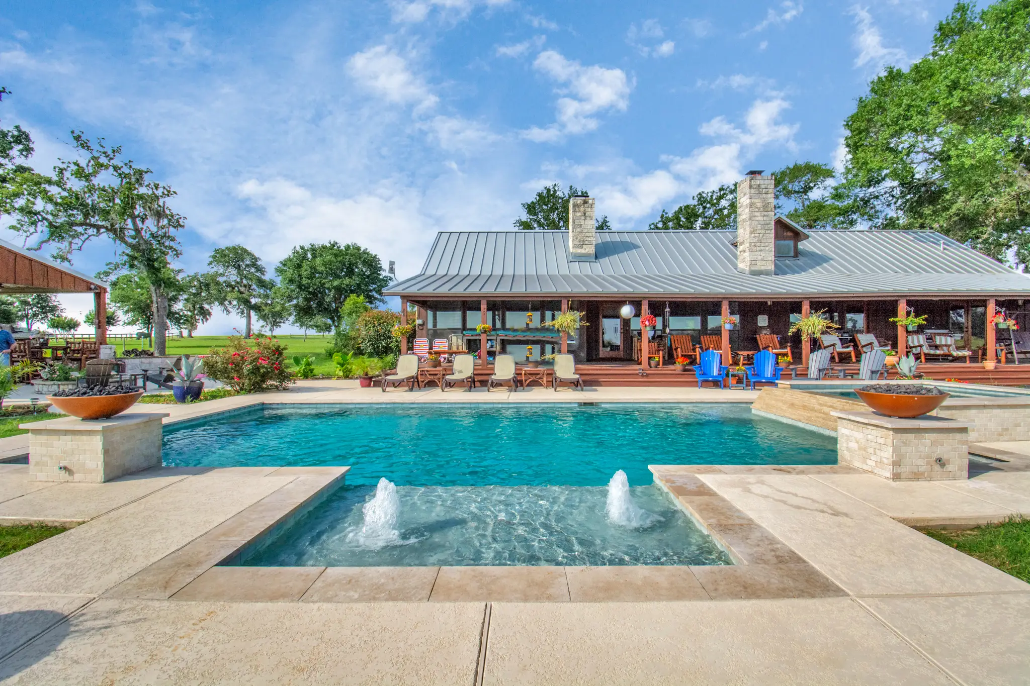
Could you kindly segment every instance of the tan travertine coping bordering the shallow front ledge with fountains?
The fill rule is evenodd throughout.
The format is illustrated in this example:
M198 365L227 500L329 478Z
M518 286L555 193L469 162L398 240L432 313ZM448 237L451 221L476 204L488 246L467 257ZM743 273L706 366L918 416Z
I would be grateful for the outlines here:
M693 474L855 473L835 465L652 466L655 481L712 534L730 566L245 567L236 566L276 528L320 502L347 468L304 474L118 584L119 599L228 602L644 602L829 598L846 592ZM300 470L300 471L296 471ZM334 471L335 470L335 471Z

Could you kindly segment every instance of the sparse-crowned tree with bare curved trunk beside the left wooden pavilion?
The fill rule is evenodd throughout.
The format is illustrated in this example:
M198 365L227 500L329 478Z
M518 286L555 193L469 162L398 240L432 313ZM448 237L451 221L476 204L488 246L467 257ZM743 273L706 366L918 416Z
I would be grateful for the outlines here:
M174 276L169 259L180 255L175 231L185 224L185 218L168 207L175 191L151 180L149 169L123 159L119 146L107 147L103 139L91 142L81 132L72 132L72 140L84 159L62 159L53 177L39 177L44 180L36 201L18 206L10 228L36 239L37 247L54 246L53 256L65 262L91 240L113 242L119 257L112 266L146 276L153 300L154 352L164 355L168 291L174 287L164 279ZM23 197L28 195L23 192Z

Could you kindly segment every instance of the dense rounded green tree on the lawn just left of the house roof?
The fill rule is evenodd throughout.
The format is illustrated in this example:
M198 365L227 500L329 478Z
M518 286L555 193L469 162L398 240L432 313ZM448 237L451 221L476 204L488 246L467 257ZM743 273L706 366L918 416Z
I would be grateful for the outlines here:
M275 273L302 321L322 319L336 331L347 296L360 295L376 304L383 301L383 289L390 283L375 253L356 243L340 246L335 241L297 246Z

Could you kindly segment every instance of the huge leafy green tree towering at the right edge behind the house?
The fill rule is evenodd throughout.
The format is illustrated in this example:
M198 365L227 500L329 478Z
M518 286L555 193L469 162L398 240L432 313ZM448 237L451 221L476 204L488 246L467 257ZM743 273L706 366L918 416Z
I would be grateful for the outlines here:
M845 121L848 190L884 228L1030 262L1030 2L960 2L930 52L888 67Z

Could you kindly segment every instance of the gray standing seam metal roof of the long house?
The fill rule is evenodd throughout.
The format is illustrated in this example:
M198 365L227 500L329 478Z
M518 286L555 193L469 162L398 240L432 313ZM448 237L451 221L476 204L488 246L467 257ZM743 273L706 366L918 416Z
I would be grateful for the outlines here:
M442 231L421 274L387 295L939 295L1030 297L1030 277L933 231L813 230L774 276L736 270L736 231L598 231L569 259L568 231Z

